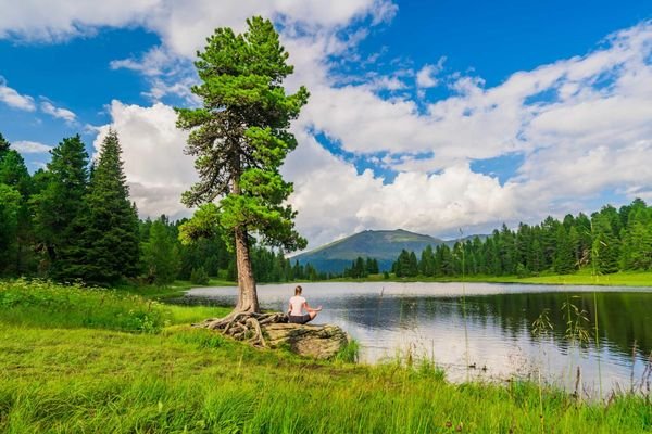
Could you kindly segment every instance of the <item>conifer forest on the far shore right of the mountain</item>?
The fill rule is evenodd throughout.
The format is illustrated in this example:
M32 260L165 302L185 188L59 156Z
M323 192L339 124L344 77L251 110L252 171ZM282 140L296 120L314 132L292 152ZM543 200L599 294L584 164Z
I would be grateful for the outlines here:
M652 269L652 207L640 199L587 216L547 217L539 225L503 225L484 240L474 237L453 247L428 246L417 258L403 251L392 266L397 277L594 275Z

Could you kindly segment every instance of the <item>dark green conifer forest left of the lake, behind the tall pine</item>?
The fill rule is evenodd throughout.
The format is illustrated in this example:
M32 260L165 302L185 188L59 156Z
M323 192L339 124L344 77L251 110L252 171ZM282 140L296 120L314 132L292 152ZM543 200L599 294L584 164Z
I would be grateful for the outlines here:
M186 221L138 219L115 131L92 162L79 136L63 139L34 175L0 135L0 276L100 285L236 281L223 237L181 243ZM254 245L251 254L259 282L326 278L310 265L291 266L280 251Z

